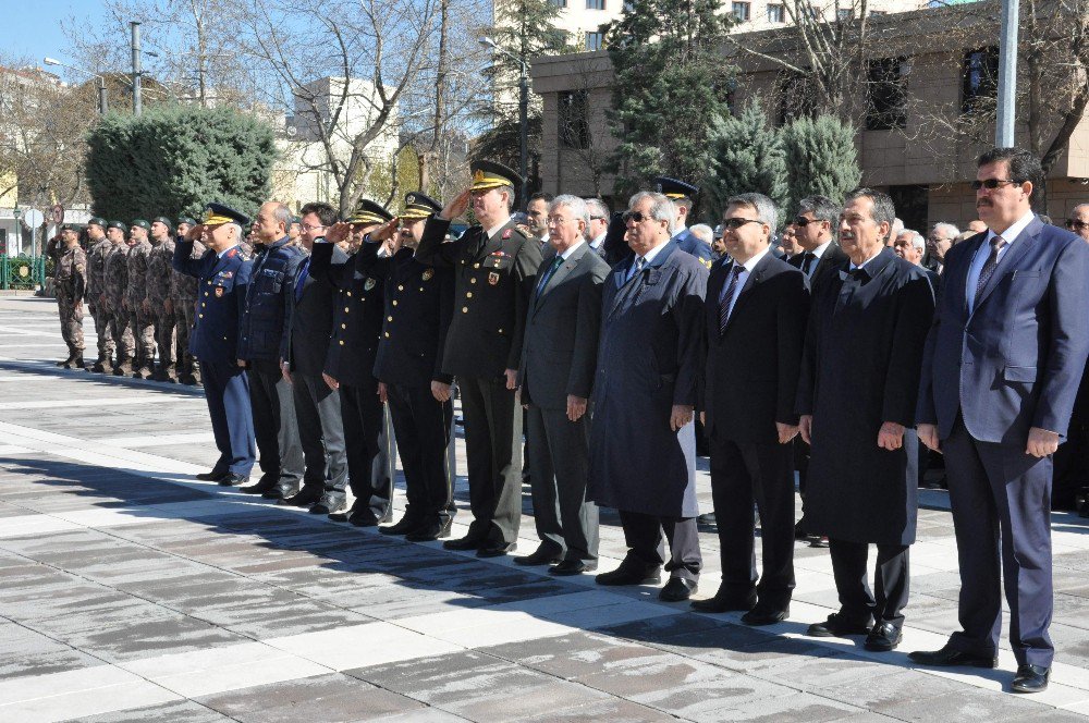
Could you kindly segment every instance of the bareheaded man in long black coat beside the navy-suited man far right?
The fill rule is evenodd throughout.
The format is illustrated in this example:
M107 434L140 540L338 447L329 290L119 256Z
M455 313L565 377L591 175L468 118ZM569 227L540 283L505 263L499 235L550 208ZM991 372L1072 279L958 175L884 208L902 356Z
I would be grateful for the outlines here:
M888 195L847 195L840 245L849 264L818 283L798 382L803 439L812 448L806 524L829 538L840 610L817 637L867 635L868 650L903 639L908 553L918 515L915 401L933 314L930 281L884 245ZM876 544L870 590L866 562Z

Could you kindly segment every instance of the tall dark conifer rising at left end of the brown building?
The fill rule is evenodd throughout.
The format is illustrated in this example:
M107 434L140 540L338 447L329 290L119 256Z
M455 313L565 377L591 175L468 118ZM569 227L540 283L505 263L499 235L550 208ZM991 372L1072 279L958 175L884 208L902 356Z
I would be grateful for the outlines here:
M730 26L720 0L632 0L607 36L615 74L609 120L619 145L616 191L654 175L705 174L707 140L726 114L734 70L719 45Z

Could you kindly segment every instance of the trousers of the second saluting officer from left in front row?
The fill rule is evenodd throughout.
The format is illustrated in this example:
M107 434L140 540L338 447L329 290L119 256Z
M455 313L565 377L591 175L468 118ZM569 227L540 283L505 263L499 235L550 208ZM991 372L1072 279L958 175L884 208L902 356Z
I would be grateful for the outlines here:
M359 387L341 384L347 479L356 505L369 505L379 519L390 512L397 448L390 415L378 399L378 381Z

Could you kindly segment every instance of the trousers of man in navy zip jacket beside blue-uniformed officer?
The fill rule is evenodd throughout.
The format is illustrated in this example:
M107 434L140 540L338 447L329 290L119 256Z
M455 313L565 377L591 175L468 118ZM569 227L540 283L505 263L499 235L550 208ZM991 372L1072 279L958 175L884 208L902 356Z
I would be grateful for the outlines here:
M303 446L292 385L272 359L252 362L247 373L261 475L279 479L282 492L293 492L303 478Z

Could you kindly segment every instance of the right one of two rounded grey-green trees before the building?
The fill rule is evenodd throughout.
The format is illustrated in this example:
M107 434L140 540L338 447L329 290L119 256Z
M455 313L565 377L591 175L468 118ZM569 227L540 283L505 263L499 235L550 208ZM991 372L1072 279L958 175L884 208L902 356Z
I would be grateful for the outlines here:
M816 194L839 200L858 186L862 172L849 123L834 115L802 117L781 133L792 205Z

